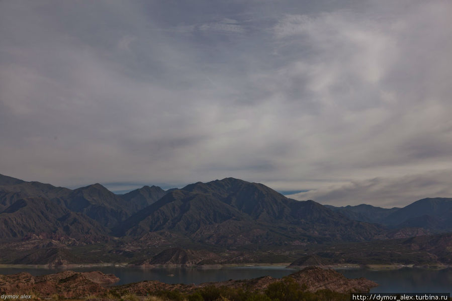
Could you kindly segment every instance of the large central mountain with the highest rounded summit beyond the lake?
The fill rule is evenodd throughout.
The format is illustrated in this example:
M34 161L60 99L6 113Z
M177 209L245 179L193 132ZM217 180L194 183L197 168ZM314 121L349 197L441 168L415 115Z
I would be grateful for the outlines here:
M289 199L258 183L225 178L167 193L114 229L141 237L168 230L222 246L372 239L380 227L350 221L312 200Z

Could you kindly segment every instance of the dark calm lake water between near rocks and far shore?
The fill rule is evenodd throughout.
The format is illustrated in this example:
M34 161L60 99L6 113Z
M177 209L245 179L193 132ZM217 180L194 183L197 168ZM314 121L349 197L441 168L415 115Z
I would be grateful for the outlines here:
M73 268L75 271L95 271L115 274L121 280L117 284L143 280L159 280L166 283L202 283L229 279L249 279L261 276L281 278L296 272L283 266L228 267L221 269L143 269L130 267ZM0 274L29 272L42 275L60 272L61 269L0 268ZM448 292L452 294L452 268L434 270L403 268L398 270L346 269L337 270L348 278L366 277L379 283L371 292Z

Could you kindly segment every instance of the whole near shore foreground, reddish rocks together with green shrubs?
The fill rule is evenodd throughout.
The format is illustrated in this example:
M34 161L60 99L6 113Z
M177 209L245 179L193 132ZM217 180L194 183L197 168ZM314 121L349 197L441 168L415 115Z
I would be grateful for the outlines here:
M167 284L157 280L141 281L125 285L111 286L119 280L113 274L99 271L64 271L56 274L32 276L29 273L0 275L0 293L29 294L49 298L91 298L119 300L138 296L160 295L170 300L285 300L290 299L328 299L342 300L349 297L348 292L368 292L377 283L365 278L348 279L334 270L309 267L283 279L264 276L245 280L228 280L195 284ZM127 295L126 295L127 294ZM297 296L294 298L294 296ZM122 299L122 298L121 298Z

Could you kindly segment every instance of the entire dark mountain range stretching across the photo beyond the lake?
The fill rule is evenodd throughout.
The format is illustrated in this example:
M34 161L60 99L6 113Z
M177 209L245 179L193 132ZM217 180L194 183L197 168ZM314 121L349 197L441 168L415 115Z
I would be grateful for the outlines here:
M236 178L166 191L143 186L115 194L99 183L68 189L0 175L0 240L30 245L5 256L5 262L29 262L37 249L46 249L41 243L30 244L36 239L50 244L33 255L40 261L47 253L74 261L71 252L80 258L94 245L102 245L96 252L111 260L124 260L127 254L146 261L174 247L267 252L283 246L296 250L312 244L406 238L452 231L450 213L452 198L426 198L392 209L322 206ZM62 245L55 247L55 242ZM55 253L55 248L67 250Z

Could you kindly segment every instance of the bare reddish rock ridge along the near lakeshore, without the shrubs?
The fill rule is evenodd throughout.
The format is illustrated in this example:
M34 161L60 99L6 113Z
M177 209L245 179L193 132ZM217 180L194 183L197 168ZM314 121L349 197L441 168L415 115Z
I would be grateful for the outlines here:
M306 290L316 292L329 289L336 292L363 292L369 291L377 283L365 278L348 279L334 270L324 270L318 267L308 267L289 275ZM198 288L214 285L241 288L250 291L264 291L269 284L282 281L282 279L264 276L245 280L228 280L222 282L206 282L195 284L167 284L160 281L141 281L118 286L107 286L119 280L112 274L103 274L99 271L77 273L64 271L56 274L32 276L29 273L14 275L0 275L0 294L22 294L33 291L40 297L58 294L65 298L84 297L87 295L101 295L110 290L119 293L135 293L147 295L163 290L191 293Z

